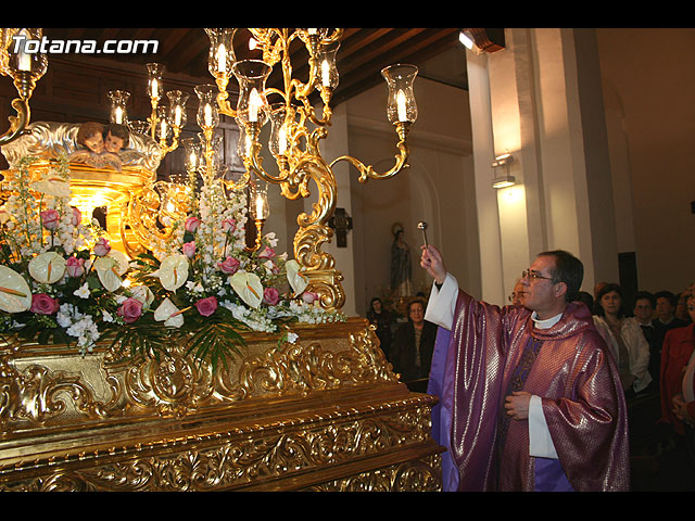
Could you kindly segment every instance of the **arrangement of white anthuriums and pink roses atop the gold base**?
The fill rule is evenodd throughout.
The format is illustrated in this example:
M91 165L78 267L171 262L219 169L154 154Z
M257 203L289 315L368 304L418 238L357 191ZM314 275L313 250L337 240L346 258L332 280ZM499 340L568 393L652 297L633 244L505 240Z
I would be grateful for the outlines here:
M131 356L186 345L199 360L226 363L242 332L280 332L291 322L343 320L305 291L294 259L276 254L275 233L245 247L244 194L206 182L198 204L166 241L130 260L111 249L96 221L70 205L70 165L61 157L40 179L23 158L0 208L0 334L73 343L81 354L100 339Z

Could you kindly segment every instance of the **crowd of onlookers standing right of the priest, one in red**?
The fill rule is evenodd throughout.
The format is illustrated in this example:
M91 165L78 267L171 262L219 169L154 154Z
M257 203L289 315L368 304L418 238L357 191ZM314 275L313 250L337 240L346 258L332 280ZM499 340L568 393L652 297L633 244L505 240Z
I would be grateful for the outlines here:
M640 291L631 307L615 283L585 298L620 372L633 456L653 462L660 487L693 490L695 283L678 294Z

